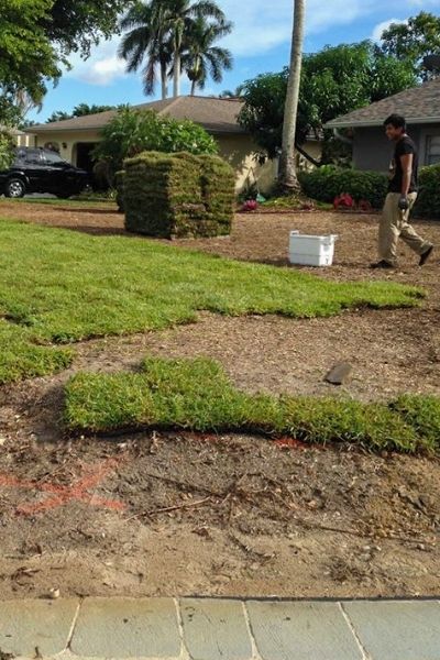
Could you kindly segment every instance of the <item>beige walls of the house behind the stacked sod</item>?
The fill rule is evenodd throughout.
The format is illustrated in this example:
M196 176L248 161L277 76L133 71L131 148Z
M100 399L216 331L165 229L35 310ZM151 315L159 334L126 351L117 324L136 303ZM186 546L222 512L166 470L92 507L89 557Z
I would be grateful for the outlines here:
M46 146L55 144L59 148L63 158L77 164L77 144L96 143L100 141L99 131L72 131L38 133L28 135L26 146ZM249 186L256 184L258 190L264 195L272 188L277 176L277 161L266 161L260 165L255 160L256 147L250 135L217 135L220 155L228 161L237 173L235 190L240 193ZM307 151L314 157L319 158L320 145L317 142L307 143Z

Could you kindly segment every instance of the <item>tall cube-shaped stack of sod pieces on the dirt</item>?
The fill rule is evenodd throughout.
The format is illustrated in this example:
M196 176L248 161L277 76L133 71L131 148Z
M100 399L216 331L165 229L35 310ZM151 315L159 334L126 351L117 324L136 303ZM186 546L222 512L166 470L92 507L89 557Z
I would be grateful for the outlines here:
M144 152L124 167L128 231L168 239L230 233L234 173L219 156Z

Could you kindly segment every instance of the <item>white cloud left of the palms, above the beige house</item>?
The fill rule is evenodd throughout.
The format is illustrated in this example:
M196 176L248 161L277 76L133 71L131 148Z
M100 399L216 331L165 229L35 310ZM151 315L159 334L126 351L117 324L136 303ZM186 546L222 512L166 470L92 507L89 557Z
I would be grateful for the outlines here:
M125 77L125 62L118 57L118 44L119 37L101 43L86 61L74 55L70 57L72 69L66 76L103 87Z

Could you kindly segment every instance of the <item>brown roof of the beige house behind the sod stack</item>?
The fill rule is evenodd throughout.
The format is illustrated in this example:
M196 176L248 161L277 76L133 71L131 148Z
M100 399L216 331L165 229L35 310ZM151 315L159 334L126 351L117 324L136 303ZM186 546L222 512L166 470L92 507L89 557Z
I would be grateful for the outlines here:
M140 106L133 106L133 109L155 110L158 114L168 114L174 119L190 119L211 133L244 133L245 131L237 121L241 107L242 101L240 99L183 96L176 99L141 103ZM98 114L36 124L31 127L29 132L55 133L58 131L97 130L105 127L116 114L117 110L108 110Z

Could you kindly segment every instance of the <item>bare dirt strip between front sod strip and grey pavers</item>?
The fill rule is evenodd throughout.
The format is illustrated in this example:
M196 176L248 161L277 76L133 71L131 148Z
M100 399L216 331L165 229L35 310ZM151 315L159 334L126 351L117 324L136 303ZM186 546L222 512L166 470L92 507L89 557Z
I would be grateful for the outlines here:
M144 435L8 443L4 474L3 597L438 588L439 465L427 459Z

